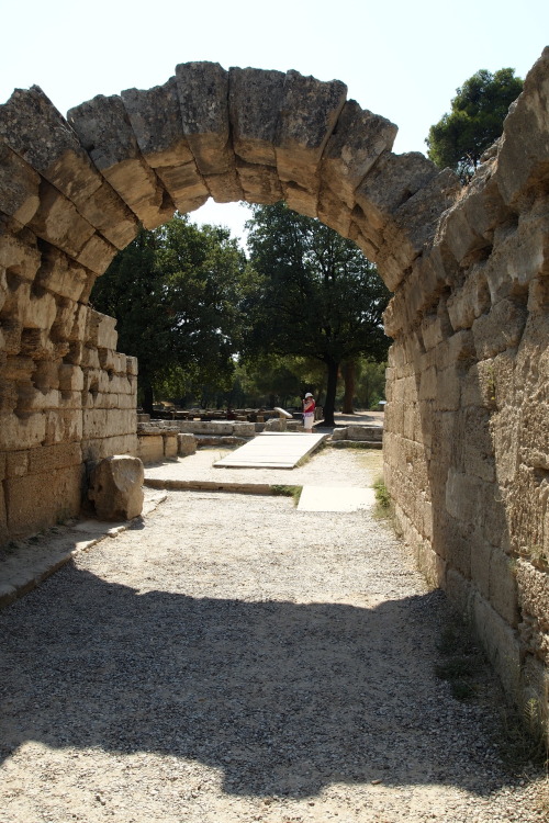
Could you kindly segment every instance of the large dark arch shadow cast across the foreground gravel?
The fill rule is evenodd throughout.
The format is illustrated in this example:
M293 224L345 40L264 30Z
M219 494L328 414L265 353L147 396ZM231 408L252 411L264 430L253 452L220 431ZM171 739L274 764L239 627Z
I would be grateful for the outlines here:
M488 793L477 710L419 665L440 606L138 595L67 567L0 615L2 756L33 740L194 758L232 794L372 780Z

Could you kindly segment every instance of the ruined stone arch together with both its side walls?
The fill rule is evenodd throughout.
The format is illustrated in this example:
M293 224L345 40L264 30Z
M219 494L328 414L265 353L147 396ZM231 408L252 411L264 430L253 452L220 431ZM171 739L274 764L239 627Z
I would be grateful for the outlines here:
M421 567L518 702L547 709L549 49L472 182L296 71L180 65L65 120L38 87L0 106L0 540L79 511L136 453L135 359L90 307L139 223L273 203L354 239L394 293L384 455ZM388 642L390 639L388 638Z

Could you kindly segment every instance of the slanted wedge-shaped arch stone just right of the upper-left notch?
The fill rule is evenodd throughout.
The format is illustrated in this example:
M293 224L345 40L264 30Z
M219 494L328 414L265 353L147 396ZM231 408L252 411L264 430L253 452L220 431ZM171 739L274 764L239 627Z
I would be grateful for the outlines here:
M122 98L99 94L71 109L67 119L96 168L145 228L172 217L175 206L141 156Z

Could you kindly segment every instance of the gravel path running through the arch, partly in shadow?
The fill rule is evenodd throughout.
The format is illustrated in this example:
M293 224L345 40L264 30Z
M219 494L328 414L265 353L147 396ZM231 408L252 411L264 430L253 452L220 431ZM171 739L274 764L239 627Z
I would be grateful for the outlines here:
M368 511L170 492L0 613L0 823L546 820L493 680L434 674L447 618Z

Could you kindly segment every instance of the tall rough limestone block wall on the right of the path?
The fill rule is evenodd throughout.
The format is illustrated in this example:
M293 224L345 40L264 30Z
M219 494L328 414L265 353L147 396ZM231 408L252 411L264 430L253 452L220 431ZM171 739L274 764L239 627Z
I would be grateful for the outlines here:
M385 476L506 690L549 691L549 53L386 313Z

